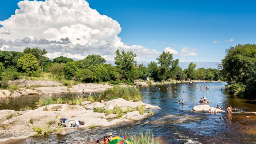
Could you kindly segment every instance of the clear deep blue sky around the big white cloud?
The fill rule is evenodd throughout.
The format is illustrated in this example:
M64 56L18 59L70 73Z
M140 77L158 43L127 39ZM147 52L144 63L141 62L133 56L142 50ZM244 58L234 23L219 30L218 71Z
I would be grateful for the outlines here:
M0 20L18 9L20 0L2 1ZM87 0L92 9L116 20L125 44L162 52L170 47L180 61L220 62L225 49L256 43L256 1ZM214 43L215 41L215 43ZM229 42L226 42L229 41ZM182 55L187 47L194 56ZM188 53L188 52L187 52ZM153 61L146 57L141 61Z

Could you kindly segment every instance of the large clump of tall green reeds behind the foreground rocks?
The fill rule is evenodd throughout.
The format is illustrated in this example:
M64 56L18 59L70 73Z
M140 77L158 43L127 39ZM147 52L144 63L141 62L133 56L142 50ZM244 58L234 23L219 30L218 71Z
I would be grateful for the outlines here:
M141 99L141 93L136 87L120 87L115 86L101 93L100 99L109 101L113 99L123 98L125 100Z

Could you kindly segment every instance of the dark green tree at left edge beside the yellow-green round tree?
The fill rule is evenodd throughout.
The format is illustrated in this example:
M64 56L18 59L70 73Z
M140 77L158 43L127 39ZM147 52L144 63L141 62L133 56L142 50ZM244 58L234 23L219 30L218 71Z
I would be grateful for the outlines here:
M0 62L3 63L4 67L17 66L18 59L25 54L16 51L0 51Z

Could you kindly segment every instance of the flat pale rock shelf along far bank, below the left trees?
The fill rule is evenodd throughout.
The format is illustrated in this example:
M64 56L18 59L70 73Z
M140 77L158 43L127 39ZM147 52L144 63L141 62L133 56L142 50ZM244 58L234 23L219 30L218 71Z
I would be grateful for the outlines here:
M113 88L114 85L108 84L76 84L72 87L64 86L63 84L56 81L32 81L32 80L15 80L9 81L9 84L16 84L20 88L19 90L9 91L9 90L0 90L0 98L6 97L16 97L16 96L25 96L25 95L34 95L34 94L53 94L53 93L75 93L82 92L84 89L85 92L102 92L108 88ZM129 85L120 85L121 87L129 87Z

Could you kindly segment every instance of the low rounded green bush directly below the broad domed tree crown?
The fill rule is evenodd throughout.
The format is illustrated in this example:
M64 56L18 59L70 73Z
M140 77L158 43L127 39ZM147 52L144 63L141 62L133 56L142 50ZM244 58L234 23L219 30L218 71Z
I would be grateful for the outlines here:
M77 79L84 83L91 83L96 79L96 74L89 69L82 69L77 72Z

